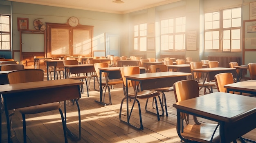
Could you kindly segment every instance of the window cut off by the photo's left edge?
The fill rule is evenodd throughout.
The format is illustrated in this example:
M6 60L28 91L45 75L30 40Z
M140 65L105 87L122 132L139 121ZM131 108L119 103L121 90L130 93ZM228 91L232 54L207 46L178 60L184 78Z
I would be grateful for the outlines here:
M10 16L0 15L0 50L11 50Z

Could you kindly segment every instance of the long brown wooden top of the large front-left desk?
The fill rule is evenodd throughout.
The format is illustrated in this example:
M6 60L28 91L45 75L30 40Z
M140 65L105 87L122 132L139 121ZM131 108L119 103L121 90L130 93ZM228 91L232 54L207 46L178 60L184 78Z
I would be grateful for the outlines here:
M42 90L47 88L57 88L63 86L74 86L84 84L82 81L74 79L59 79L59 80L49 80L49 81L36 81L27 82L20 84L4 84L0 85L0 94L9 94L16 92L24 92L31 90Z

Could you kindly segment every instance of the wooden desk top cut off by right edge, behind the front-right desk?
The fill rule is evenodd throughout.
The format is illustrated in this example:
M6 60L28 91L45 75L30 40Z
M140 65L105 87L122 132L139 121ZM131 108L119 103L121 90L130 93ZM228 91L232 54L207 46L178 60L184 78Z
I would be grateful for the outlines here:
M256 80L246 80L240 81L233 84L227 84L225 88L236 89L236 90L246 90L256 92Z

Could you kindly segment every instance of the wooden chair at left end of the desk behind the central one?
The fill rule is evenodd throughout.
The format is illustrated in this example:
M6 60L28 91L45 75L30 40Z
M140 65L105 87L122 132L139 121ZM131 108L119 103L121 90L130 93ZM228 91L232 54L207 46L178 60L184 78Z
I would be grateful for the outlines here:
M98 84L100 84L100 81L99 81L99 76L100 76L99 68L107 68L107 67L108 67L108 63L95 63L94 64L94 69L96 71ZM108 79L107 73L102 73L102 77L105 77L105 81L103 79L101 79L101 86L103 86L102 91L105 88L105 92L104 92L103 100L102 101L103 101L103 103L105 103L106 88L108 88L109 102L106 103L106 104L112 105L112 100L111 100L111 94L110 94L109 86L114 86L114 85L117 85L117 84L122 84L123 81L121 79L109 79L108 80L108 84L107 84L107 82L106 82L107 79Z

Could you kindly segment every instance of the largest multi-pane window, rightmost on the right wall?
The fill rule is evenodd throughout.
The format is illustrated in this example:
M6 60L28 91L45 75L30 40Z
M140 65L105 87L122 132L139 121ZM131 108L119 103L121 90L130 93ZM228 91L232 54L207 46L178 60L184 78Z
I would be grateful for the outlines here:
M205 51L241 51L241 8L204 14Z

